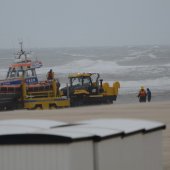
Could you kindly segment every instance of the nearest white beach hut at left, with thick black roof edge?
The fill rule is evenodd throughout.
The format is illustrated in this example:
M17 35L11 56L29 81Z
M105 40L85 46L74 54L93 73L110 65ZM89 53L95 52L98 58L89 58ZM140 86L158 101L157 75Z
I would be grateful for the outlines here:
M61 122L26 122L0 122L0 169L93 170L92 135L54 128Z

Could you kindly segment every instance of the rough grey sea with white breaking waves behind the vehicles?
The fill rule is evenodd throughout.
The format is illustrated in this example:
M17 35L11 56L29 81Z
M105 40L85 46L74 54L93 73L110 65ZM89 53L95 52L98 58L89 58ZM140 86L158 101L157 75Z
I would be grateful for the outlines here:
M41 60L39 80L53 69L61 86L68 83L69 73L100 73L104 82L120 82L117 103L138 102L141 86L150 88L152 101L170 100L170 46L121 46L25 49ZM0 79L14 61L17 49L0 49Z

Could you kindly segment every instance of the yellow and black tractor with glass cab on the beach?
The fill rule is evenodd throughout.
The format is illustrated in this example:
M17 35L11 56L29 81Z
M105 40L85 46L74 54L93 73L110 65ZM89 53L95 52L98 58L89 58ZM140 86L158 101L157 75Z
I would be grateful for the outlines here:
M113 103L116 101L120 83L117 81L110 87L104 83L99 73L70 74L69 86L61 89L64 96L70 98L71 106Z

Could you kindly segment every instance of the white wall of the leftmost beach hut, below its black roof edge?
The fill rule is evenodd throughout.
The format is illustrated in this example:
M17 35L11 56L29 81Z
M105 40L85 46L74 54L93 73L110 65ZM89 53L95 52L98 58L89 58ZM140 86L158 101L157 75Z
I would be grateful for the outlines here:
M93 170L92 142L1 145L0 170Z

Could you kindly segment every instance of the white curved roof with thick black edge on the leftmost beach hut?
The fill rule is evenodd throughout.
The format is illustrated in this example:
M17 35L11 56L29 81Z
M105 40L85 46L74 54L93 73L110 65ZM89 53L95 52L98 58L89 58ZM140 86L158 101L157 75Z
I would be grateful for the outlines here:
M3 120L0 121L0 144L68 143L93 137L89 133L70 133L56 128L68 125L50 120Z

